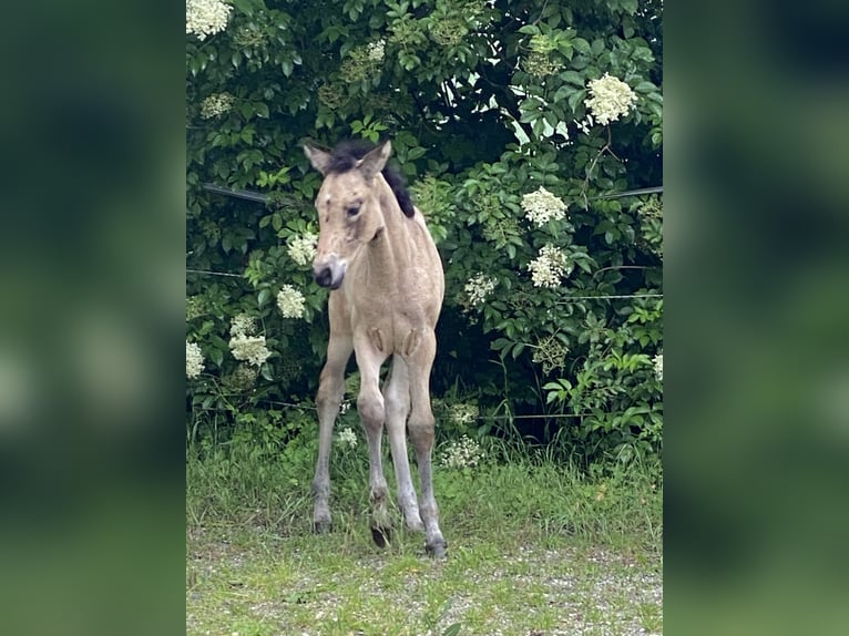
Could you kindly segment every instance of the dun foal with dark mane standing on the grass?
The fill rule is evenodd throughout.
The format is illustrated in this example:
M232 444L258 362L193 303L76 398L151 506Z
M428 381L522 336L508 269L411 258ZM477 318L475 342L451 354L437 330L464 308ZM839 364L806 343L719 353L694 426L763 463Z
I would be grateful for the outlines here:
M331 289L330 340L316 403L319 447L314 523L330 525L329 455L333 428L345 392L345 367L355 352L360 372L357 410L368 438L371 534L385 545L391 531L380 444L389 435L398 482L398 505L410 530L424 531L424 547L446 554L431 480L433 414L430 369L437 341L433 329L444 294L442 264L424 218L399 176L385 170L389 142L366 152L341 145L333 153L305 145L309 162L325 179L318 192L316 281ZM379 386L380 367L392 358ZM407 460L406 429L421 478L417 501Z

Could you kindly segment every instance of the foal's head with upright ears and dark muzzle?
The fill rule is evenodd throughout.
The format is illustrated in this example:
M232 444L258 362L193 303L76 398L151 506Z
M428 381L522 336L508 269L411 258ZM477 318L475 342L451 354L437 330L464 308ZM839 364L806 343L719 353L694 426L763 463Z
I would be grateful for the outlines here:
M337 289L362 246L383 230L374 185L391 150L387 141L358 158L344 148L328 153L304 146L313 167L325 176L316 197L319 234L313 260L313 274L320 286Z

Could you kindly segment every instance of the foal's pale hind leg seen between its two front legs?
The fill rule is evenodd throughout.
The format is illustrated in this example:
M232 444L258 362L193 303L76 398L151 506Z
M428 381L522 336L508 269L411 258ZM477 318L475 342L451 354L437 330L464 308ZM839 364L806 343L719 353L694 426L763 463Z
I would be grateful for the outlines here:
M398 482L398 506L403 512L407 527L421 532L424 524L419 515L416 489L410 478L410 462L407 459L407 416L410 413L410 377L407 363L400 356L392 358L389 378L383 383L386 428L392 451L395 479Z

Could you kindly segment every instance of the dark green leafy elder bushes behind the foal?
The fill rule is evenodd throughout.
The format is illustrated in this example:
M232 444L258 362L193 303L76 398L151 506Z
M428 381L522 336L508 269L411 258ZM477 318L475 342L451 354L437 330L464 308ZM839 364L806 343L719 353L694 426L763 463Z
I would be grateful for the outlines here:
M446 268L440 440L511 437L586 463L657 458L662 9L233 0L226 28L187 34L186 338L204 359L187 382L190 438L245 424L279 448L314 425L327 293L288 249L317 233L320 176L300 146L389 139ZM605 74L636 101L592 125L587 85ZM541 186L565 216L529 220L523 197ZM563 259L553 287L531 276L544 246ZM301 318L276 306L285 285L303 295ZM269 351L252 373L228 348L239 314ZM450 417L468 406L474 417Z

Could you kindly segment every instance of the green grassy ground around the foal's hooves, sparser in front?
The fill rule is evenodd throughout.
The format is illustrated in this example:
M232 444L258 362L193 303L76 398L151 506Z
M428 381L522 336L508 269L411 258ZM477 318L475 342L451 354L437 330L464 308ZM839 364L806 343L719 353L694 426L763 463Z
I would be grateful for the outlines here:
M521 458L440 469L449 555L434 562L422 535L400 522L388 547L371 543L365 463L365 449L337 453L334 531L314 535L310 452L190 452L187 633L663 632L662 484L653 471L587 478Z

